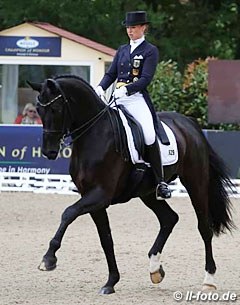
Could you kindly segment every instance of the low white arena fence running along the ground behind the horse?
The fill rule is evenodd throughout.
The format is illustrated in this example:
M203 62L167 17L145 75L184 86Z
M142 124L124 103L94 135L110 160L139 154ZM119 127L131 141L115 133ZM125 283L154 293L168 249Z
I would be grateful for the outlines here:
M240 179L232 180L235 189L229 195L240 198ZM188 196L179 179L170 184L173 197ZM34 192L74 195L74 183L69 175L34 174L34 173L0 173L0 192Z

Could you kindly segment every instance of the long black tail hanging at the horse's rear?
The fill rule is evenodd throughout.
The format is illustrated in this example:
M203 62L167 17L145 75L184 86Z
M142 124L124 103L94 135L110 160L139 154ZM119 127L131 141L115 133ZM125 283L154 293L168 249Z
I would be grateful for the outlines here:
M234 186L223 160L209 144L209 216L213 233L219 235L226 230L232 231L235 225L231 215L231 201L228 191Z

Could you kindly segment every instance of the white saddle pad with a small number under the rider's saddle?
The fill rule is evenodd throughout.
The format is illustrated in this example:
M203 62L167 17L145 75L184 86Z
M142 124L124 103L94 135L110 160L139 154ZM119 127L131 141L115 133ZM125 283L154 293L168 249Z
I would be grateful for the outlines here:
M119 114L123 123L123 126L126 131L127 135L127 143L129 152L131 155L131 160L133 164L136 163L145 163L145 161L139 157L139 153L135 148L132 130L128 125L127 119L123 112L119 109ZM178 161L178 149L177 149L177 142L176 138L172 132L172 130L164 123L162 122L162 125L167 133L170 145L163 145L161 141L158 139L158 143L160 145L160 151L161 151L161 157L162 157L162 163L163 165L171 165Z

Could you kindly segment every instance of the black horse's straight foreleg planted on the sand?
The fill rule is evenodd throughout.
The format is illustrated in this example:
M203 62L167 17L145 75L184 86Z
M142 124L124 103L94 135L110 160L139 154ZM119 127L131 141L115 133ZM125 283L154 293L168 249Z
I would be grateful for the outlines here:
M100 237L101 245L104 250L107 264L108 264L108 281L100 289L100 294L114 293L114 286L119 281L120 275L117 268L117 263L114 254L113 240L111 235L111 229L109 226L108 215L105 209L98 210L91 213L92 219L96 224L98 234Z

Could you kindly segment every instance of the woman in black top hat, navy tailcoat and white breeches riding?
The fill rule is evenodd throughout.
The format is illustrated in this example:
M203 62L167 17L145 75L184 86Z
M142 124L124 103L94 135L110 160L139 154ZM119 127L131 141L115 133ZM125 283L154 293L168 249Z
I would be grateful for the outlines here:
M126 27L130 43L119 47L111 66L95 91L99 97L104 98L104 91L117 80L113 96L116 103L123 104L141 124L147 160L157 180L156 198L167 199L171 197L171 191L164 182L155 132L157 117L146 89L158 64L158 49L145 40L145 32L149 24L145 11L127 12L122 24Z

